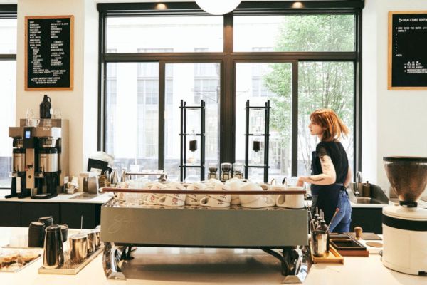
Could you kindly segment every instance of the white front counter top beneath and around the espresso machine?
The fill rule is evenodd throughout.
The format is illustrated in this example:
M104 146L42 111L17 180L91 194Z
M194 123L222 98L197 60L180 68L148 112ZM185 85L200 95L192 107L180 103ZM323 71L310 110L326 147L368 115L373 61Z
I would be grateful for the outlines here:
M26 228L0 227L0 238L14 236ZM9 237L10 238L10 237ZM38 259L18 273L1 273L0 284L280 284L280 264L259 249L138 248L131 265L125 264L126 281L107 280L102 254L77 275L43 275ZM144 258L142 258L144 257ZM341 264L313 264L305 285L426 284L427 277L401 274L387 269L378 254L345 257Z

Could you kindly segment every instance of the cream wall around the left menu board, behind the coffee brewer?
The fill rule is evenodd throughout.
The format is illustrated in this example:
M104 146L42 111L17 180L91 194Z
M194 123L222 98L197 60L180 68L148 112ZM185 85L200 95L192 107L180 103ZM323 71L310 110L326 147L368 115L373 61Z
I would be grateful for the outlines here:
M74 90L24 90L25 16L74 15ZM88 154L97 148L97 11L92 0L19 0L18 46L16 53L16 123L26 110L38 116L43 94L51 97L52 108L70 120L70 175L85 169Z

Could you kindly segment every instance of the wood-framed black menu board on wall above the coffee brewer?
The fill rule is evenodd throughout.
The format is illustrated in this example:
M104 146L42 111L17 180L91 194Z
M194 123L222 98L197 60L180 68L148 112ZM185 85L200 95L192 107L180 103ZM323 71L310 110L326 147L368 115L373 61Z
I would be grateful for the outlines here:
M73 20L25 17L25 90L73 90Z

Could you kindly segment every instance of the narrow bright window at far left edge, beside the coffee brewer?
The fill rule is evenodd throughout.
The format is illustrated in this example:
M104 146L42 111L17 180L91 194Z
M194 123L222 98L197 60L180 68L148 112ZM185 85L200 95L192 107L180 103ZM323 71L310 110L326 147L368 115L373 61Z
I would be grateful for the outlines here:
M11 187L12 139L9 127L15 125L16 100L16 19L0 18L0 187Z

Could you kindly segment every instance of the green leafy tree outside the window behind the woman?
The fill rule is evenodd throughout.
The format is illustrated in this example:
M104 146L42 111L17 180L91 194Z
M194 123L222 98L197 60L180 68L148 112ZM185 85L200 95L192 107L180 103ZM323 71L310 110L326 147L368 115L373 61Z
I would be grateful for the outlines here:
M354 15L284 16L274 51L354 51ZM292 135L292 70L281 63L270 64L270 73L263 77L265 86L275 93L271 100L270 128L279 134L282 150L290 149ZM354 156L354 63L298 63L298 160L305 174L310 173L311 152L317 138L308 132L310 113L318 108L330 108L349 127L346 147L349 160ZM283 162L288 162L284 152ZM282 166L287 168L286 165ZM299 170L299 175L304 173Z

